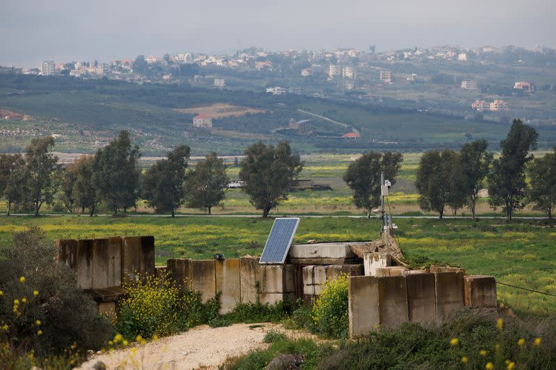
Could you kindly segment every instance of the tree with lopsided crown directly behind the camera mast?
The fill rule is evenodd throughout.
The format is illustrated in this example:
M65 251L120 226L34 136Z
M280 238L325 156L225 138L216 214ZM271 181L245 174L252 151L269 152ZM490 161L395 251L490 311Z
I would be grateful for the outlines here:
M379 205L380 173L384 172L384 178L394 185L402 160L401 153L388 151L381 154L370 151L347 167L343 180L354 191L354 205L366 210L367 217L370 217L370 211Z

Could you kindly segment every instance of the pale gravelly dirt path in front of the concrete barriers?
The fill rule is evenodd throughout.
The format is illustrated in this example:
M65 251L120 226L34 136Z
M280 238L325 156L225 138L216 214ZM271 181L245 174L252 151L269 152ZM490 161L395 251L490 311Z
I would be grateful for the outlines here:
M240 323L223 328L197 326L186 333L137 346L135 353L128 348L95 355L80 369L92 369L99 360L106 369L218 369L228 357L265 346L263 337L272 328L285 331L273 323Z

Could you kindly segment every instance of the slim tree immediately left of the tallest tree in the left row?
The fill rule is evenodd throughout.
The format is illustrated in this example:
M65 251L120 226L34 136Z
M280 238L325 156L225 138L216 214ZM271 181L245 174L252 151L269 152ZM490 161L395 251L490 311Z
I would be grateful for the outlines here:
M76 179L72 189L75 205L81 208L81 212L85 212L85 208L87 208L89 216L92 217L92 215L95 215L98 204L97 188L92 179L95 157L92 155L81 155L75 164Z

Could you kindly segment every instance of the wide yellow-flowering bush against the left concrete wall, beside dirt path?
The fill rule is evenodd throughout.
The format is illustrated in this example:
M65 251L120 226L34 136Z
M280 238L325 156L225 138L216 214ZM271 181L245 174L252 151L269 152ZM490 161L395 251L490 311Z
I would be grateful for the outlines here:
M170 279L147 276L124 284L116 328L127 339L172 335L218 317L218 301L202 304L195 292L183 292Z

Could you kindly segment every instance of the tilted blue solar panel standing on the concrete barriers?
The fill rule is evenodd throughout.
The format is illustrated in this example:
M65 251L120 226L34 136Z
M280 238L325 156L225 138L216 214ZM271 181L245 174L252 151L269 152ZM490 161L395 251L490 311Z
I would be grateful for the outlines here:
M265 249L259 260L259 264L284 264L286 255L290 250L293 235L300 224L298 217L284 217L274 220Z

